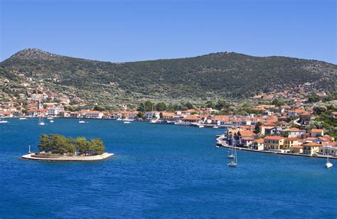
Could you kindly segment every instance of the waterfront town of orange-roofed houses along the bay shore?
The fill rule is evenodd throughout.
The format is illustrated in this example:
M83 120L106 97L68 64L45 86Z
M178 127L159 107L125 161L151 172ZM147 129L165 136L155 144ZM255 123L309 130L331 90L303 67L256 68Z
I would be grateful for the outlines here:
M27 87L25 94L20 93L1 102L0 117L2 120L5 117L117 119L124 120L126 124L137 120L153 124L223 128L225 134L220 139L221 144L226 142L224 144L255 151L336 157L336 100L325 101L324 97L326 94L311 93L307 97L291 97L287 103L274 99L268 105L243 104L246 107L239 106L244 110L237 114L226 110L230 105L224 101L218 104L208 102L205 107L193 107L188 103L182 110L166 110L167 107L161 106L164 103L155 105L149 101L139 107L129 107L124 103L117 106L121 110L113 111L98 106L85 109L85 104L78 97L44 92L43 87L38 86ZM76 110L81 107L82 110Z

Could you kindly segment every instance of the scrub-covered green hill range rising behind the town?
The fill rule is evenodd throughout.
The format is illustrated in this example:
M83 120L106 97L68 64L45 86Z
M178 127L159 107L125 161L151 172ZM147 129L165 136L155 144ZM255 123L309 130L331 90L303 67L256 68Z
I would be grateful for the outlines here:
M337 65L238 53L109 63L25 49L4 60L1 66L11 73L43 80L50 89L71 90L95 102L121 98L137 101L143 97L156 100L241 98L304 83L310 83L313 89L337 90Z

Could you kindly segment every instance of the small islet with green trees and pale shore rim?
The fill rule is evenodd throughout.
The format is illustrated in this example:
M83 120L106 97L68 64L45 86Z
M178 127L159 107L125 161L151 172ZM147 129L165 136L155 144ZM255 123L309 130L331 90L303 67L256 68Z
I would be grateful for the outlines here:
M22 159L38 161L100 161L114 154L105 152L102 139L64 137L60 134L42 134L38 153L21 156Z

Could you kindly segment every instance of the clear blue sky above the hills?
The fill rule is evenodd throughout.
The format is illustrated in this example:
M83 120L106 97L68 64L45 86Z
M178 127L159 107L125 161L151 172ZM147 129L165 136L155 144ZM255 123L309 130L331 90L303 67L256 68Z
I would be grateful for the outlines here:
M335 0L0 1L0 60L40 48L112 62L232 51L337 63Z

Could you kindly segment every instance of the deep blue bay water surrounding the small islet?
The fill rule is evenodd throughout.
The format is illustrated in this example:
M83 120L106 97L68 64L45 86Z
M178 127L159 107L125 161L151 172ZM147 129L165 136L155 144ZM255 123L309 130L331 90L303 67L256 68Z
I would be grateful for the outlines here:
M0 124L0 218L336 218L337 162L215 148L220 129L144 122L10 119ZM43 133L100 137L92 163L18 159Z

